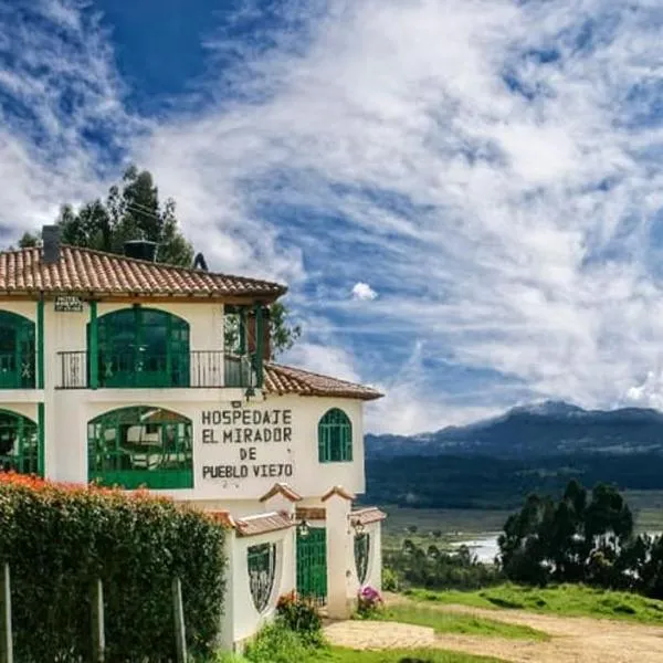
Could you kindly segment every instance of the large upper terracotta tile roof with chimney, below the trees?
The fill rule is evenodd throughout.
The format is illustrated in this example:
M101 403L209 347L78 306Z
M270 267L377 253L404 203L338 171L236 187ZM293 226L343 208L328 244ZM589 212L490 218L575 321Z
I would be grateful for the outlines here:
M42 262L40 248L0 253L0 293L168 296L261 296L275 298L286 287L269 281L214 274L80 246L61 246L60 260Z

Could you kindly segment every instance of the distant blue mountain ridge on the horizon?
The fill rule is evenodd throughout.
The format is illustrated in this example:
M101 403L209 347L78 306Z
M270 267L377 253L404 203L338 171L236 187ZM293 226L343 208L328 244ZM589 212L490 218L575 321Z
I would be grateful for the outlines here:
M366 435L368 459L576 453L663 453L663 413L641 408L583 410L561 401L518 406L493 419L418 435Z

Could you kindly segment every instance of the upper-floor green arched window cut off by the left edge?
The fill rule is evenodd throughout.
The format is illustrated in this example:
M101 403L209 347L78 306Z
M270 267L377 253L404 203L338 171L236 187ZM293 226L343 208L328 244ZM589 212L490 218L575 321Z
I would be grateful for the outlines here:
M34 323L0 311L0 389L34 389Z

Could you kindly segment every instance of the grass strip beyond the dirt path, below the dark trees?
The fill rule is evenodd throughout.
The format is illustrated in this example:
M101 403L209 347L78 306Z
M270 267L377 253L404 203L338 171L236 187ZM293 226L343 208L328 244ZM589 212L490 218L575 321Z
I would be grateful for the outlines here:
M413 589L407 594L415 600L435 603L460 603L476 608L517 609L569 617L610 618L644 624L663 624L663 601L581 585L560 585L545 589L501 585L473 592Z

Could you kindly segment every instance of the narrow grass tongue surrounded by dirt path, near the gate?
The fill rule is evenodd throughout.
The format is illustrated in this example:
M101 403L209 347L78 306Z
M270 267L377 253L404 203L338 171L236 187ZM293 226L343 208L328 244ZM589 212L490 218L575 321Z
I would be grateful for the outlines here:
M464 635L488 635L514 640L548 640L548 634L529 627L506 624L497 620L443 612L419 606L393 606L378 613L381 621L430 627L436 633L462 633Z

